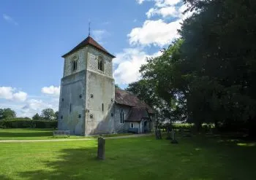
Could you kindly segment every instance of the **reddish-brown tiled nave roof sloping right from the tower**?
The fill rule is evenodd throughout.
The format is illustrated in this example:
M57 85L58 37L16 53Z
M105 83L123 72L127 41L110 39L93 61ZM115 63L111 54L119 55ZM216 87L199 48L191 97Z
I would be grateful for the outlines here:
M127 106L144 107L147 109L148 113L154 114L154 110L150 106L148 106L148 104L140 101L140 99L136 95L129 93L126 90L121 90L117 87L115 91L115 101L116 103L124 104Z

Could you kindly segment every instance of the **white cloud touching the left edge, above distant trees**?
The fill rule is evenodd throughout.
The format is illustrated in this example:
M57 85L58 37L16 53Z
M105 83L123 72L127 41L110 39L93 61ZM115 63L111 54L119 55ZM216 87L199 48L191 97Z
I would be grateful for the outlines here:
M0 98L13 101L26 101L27 93L18 91L15 93L16 88L13 87L0 87Z

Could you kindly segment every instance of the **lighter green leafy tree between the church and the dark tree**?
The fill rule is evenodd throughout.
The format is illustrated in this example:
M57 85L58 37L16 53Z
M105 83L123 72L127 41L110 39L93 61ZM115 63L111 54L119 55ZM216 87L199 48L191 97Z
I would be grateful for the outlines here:
M161 56L149 58L148 63L140 68L143 80L140 80L137 88L140 91L139 97L142 96L140 98L146 99L149 104L157 102L163 120L185 120L187 117L187 77L182 76L182 71L187 70L181 69L181 64L184 64L180 51L182 43L178 39L167 50L162 50ZM143 85L151 86L143 88Z

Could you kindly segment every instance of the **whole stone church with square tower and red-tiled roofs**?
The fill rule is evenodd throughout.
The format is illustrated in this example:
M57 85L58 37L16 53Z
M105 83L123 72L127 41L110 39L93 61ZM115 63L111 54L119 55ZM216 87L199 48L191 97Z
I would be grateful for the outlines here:
M112 60L116 57L91 36L62 58L58 130L80 136L152 130L153 109L115 87Z

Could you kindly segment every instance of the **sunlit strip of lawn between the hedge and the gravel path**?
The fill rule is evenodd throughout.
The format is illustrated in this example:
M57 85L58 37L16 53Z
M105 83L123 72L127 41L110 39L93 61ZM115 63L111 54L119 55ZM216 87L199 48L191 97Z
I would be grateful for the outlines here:
M130 133L124 134L109 134L103 135L105 137L110 136L126 136ZM53 137L53 129L39 129L39 128L13 128L13 129L0 129L0 141L1 140L37 140L37 139L57 139L68 137ZM97 138L97 136L69 136L69 138ZM0 179L1 180L1 179Z

